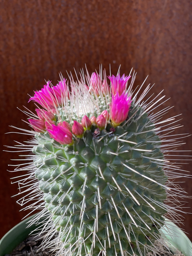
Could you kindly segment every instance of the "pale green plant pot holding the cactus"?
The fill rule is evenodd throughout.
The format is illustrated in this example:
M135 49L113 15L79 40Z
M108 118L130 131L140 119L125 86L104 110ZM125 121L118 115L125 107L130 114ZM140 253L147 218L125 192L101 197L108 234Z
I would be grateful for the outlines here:
M27 228L27 222L31 220L36 214L28 217L27 219L21 221L15 227L13 227L7 234L5 234L0 240L0 256L4 256L4 254L9 254L12 250L20 244L32 230L37 228L37 226L33 225L30 228ZM167 244L170 250L174 253L175 248L181 251L185 256L192 255L192 243L188 239L188 237L183 233L183 231L178 228L174 223L170 221L166 221L167 228L170 228L173 236L167 235L167 228L164 228L162 232L166 235L169 243Z

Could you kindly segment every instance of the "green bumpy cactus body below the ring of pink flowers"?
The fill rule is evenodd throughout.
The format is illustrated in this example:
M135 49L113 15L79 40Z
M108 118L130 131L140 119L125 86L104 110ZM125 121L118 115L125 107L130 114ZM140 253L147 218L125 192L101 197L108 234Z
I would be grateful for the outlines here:
M139 255L159 234L162 225L155 220L164 221L166 210L158 204L166 199L167 177L151 159L164 156L156 147L161 140L151 131L155 126L147 113L141 116L141 107L136 110L115 132L108 124L94 136L97 128L92 126L72 146L50 142L48 134L36 136L39 188L64 247L71 246L73 255L80 248L82 256L97 256L104 248L110 256L115 250L117 255Z

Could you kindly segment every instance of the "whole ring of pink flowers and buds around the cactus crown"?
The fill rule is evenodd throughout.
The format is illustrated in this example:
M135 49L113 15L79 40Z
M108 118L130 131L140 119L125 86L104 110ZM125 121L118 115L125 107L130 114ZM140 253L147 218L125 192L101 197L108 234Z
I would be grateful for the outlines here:
M29 119L29 123L36 132L48 132L50 137L60 144L73 144L73 135L77 138L82 138L84 131L90 130L92 125L97 129L102 130L110 122L115 128L124 122L128 116L131 107L131 97L126 92L127 82L130 76L108 76L111 82L111 88L106 80L101 81L98 74L93 73L90 79L90 86L86 84L85 89L92 93L94 97L99 97L107 94L111 97L109 112L107 110L97 116L92 116L90 119L85 115L81 123L74 121L71 125L66 121L56 122L56 109L62 106L65 100L70 100L69 87L66 80L60 81L56 86L50 87L50 82L47 82L40 91L35 92L34 97L29 99L36 101L45 109L36 109L39 119Z

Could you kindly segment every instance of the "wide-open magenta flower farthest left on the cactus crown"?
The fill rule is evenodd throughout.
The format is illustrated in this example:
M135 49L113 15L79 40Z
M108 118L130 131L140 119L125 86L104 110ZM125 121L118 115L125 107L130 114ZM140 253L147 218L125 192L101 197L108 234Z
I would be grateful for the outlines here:
M44 85L44 88L38 92L35 92L34 97L31 97L29 101L36 101L47 110L49 109L48 105L57 105L55 97L52 95L52 88L49 87L49 84L50 82L47 82L47 85Z

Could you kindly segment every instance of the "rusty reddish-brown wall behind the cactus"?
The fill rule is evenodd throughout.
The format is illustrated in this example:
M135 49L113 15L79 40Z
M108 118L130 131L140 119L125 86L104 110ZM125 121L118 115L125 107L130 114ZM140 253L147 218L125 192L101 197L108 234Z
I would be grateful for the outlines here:
M102 63L116 74L137 71L135 85L156 83L153 92L164 89L164 107L172 106L170 116L183 113L180 133L191 133L192 127L192 47L190 0L1 0L0 1L0 103L1 145L14 145L28 137L6 134L9 125L27 128L18 108L27 103L33 90L40 90L44 79L53 84L59 72L79 73L86 63L89 72ZM147 84L146 84L147 85ZM184 139L183 150L192 149L192 139ZM2 147L3 150L3 147ZM20 222L26 212L16 203L17 185L7 172L10 158L17 153L2 152L0 174L0 237ZM191 155L191 152L188 152ZM187 163L187 162L186 162ZM11 164L16 164L12 161ZM190 171L191 165L185 164ZM192 180L182 186L192 195ZM186 207L190 207L192 200ZM187 209L191 212L191 209ZM192 239L191 215L185 216L183 228Z

